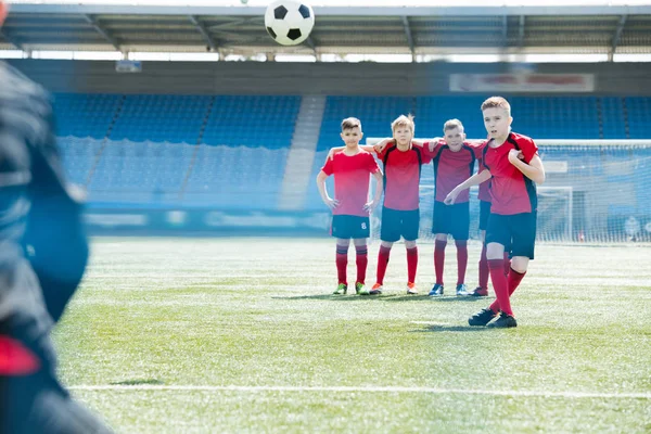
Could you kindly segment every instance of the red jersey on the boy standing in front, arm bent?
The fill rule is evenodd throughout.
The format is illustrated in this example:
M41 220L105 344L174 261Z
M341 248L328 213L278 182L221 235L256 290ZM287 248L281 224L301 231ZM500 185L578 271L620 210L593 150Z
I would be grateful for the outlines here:
M522 151L524 162L528 164L538 146L531 138L516 132L510 132L507 141L497 148L492 148L492 143L488 142L482 152L482 165L493 175L486 181L490 182L490 213L508 216L536 210L536 184L509 162L509 151Z

